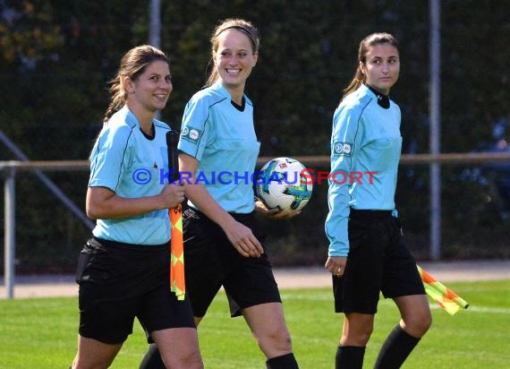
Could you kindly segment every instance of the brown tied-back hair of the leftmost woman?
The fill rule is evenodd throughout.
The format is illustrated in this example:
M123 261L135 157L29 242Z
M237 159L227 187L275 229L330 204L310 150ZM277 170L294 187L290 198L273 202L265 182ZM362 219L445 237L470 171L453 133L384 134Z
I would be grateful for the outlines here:
M126 102L127 94L123 88L123 79L129 77L132 81L136 81L147 66L157 60L168 63L165 53L150 45L133 47L124 54L115 78L109 82L110 104L103 117L103 123L106 123Z

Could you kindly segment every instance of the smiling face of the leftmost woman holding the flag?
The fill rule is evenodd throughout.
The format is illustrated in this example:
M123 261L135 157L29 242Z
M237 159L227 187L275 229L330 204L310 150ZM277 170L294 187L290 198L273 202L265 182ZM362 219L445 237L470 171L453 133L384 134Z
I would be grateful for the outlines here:
M133 113L154 115L166 106L172 92L170 68L166 62L156 60L145 68L134 81L126 78L127 105Z

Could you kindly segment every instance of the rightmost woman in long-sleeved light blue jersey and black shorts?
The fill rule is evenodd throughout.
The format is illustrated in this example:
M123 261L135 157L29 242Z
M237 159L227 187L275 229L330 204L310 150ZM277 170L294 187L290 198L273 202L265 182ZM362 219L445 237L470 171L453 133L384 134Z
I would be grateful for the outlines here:
M361 369L380 292L395 301L402 319L380 349L376 368L399 368L432 322L395 210L401 113L388 95L399 72L392 35L373 33L361 40L356 73L333 118L331 172L376 173L371 185L329 186L326 268L333 274L336 313L344 313L337 369Z

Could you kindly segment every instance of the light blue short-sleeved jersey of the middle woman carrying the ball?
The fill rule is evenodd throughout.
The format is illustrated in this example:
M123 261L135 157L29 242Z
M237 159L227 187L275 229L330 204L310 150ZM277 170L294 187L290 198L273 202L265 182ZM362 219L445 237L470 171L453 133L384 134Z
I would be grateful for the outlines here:
M197 183L224 210L250 213L255 208L252 176L260 143L250 99L243 97L243 111L231 99L219 82L193 95L184 109L178 148L199 161Z

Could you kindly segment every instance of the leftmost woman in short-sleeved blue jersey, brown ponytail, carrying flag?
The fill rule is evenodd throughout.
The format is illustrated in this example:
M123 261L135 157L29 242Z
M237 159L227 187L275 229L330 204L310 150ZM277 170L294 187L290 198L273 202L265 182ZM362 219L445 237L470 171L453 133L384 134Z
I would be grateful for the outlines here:
M122 58L104 126L90 154L86 210L97 219L81 250L78 353L72 368L107 368L138 318L166 367L203 368L191 305L171 292L168 209L180 185L161 185L166 133L155 119L172 92L168 60L140 46ZM171 350L170 350L171 348Z

